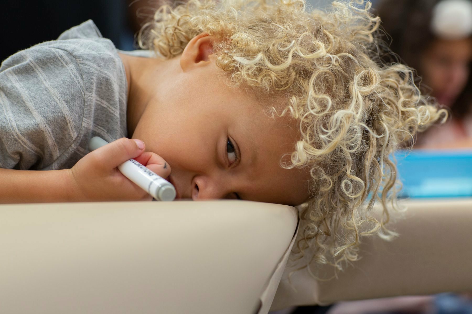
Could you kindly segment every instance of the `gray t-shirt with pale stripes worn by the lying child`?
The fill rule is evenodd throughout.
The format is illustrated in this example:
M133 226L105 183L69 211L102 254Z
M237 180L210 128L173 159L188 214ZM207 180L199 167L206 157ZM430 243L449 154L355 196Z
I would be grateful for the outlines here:
M0 66L0 168L71 168L88 140L126 137L126 72L89 20Z

